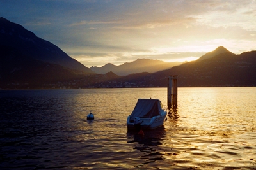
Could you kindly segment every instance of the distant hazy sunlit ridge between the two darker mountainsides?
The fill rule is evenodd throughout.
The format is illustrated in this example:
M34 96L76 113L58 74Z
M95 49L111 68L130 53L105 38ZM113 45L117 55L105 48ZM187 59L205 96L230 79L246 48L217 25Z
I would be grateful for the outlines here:
M133 62L126 62L120 66L108 63L102 67L92 66L90 69L98 74L106 74L109 71L113 71L113 73L119 76L126 76L128 74L141 72L154 73L156 71L170 69L171 67L180 64L182 64L182 62L163 62L161 60L137 59Z

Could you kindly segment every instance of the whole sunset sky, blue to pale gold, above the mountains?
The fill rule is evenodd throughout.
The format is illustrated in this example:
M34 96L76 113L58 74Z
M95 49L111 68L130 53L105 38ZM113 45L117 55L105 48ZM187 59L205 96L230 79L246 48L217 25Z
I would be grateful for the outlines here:
M0 17L86 67L256 50L256 0L0 0Z

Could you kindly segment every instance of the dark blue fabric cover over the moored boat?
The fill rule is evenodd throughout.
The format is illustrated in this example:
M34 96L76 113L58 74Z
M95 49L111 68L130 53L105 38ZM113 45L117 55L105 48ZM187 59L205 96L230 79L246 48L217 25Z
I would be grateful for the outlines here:
M130 121L135 117L152 118L161 115L162 104L159 99L138 99L134 110L132 111Z

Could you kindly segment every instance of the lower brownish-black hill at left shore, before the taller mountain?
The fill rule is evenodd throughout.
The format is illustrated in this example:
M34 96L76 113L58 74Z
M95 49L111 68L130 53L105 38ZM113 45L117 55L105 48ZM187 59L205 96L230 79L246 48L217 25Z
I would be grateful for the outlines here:
M81 71L36 60L15 48L0 45L1 88L37 88L43 87L45 83L70 81L81 77Z

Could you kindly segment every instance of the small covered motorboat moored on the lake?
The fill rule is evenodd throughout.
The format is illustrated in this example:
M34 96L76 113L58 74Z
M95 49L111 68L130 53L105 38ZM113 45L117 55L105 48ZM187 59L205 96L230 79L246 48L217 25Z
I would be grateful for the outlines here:
M138 99L131 115L127 117L128 131L156 129L164 124L167 111L159 99Z

